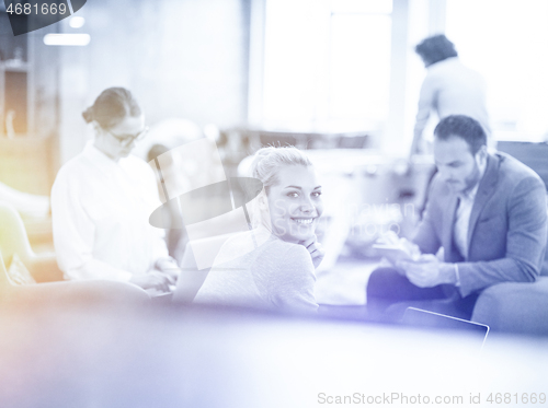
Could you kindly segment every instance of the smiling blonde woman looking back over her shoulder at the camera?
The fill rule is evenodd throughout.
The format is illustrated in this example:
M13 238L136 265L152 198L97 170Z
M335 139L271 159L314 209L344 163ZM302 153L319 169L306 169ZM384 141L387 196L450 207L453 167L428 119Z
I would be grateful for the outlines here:
M264 186L251 209L254 229L225 243L194 302L316 312L323 249L315 231L323 205L315 167L296 148L264 148L251 175Z

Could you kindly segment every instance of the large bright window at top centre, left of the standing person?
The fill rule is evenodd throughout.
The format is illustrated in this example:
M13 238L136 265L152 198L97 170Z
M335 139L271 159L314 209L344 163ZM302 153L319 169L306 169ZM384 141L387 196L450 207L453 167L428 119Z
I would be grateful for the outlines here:
M389 113L391 0L267 0L261 125L379 129Z

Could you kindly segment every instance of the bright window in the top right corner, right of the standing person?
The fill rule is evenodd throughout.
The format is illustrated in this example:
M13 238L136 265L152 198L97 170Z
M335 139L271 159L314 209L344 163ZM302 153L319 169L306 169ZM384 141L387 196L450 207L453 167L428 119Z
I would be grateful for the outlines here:
M548 1L447 0L447 36L488 81L499 140L548 137Z

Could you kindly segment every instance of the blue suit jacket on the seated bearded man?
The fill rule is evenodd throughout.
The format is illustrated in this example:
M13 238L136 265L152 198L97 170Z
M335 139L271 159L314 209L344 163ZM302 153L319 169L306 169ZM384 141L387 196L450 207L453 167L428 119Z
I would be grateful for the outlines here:
M434 177L424 219L413 240L421 250L444 247L445 261L458 263L460 294L494 283L535 281L547 234L546 187L525 164L504 153L488 155L468 226L468 258L453 241L457 196Z

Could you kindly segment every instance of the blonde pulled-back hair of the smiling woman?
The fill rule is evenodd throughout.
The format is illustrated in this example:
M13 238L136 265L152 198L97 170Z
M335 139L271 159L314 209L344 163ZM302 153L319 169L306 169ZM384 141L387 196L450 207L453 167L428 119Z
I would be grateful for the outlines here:
M259 178L264 186L266 194L270 187L275 185L277 173L281 168L292 165L311 166L310 159L297 148L262 148L255 153L253 162L251 163L251 176Z

